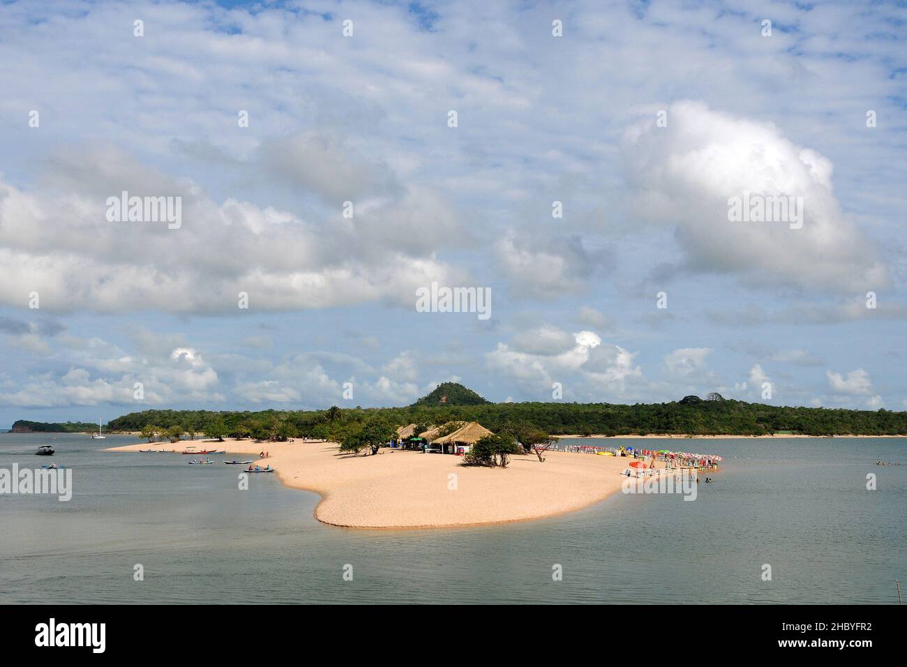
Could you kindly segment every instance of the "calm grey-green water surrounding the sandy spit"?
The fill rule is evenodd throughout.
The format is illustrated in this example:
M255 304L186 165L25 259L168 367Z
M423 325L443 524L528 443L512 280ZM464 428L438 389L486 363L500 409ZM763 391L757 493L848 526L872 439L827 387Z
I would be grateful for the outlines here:
M628 440L724 463L695 502L618 494L539 521L427 530L322 525L316 494L273 475L239 491L222 455L188 466L103 451L135 442L0 435L0 468L52 459L74 487L69 502L0 495L0 603L897 603L907 579L904 438ZM42 444L56 455L34 456Z

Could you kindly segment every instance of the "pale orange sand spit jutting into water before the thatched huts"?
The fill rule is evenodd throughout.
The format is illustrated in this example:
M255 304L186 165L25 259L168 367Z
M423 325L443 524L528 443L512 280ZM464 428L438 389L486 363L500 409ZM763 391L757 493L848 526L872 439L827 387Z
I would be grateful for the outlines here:
M355 528L499 524L559 515L617 493L625 479L619 473L628 465L628 459L620 457L549 452L544 463L535 456L513 456L503 470L464 467L460 456L393 449L351 456L340 454L335 443L301 439L141 443L110 451L170 451L192 445L250 454L253 460L268 450L270 456L260 465L276 468L287 486L321 495L315 509L318 521ZM211 458L223 466L223 455ZM237 468L230 472L238 473Z

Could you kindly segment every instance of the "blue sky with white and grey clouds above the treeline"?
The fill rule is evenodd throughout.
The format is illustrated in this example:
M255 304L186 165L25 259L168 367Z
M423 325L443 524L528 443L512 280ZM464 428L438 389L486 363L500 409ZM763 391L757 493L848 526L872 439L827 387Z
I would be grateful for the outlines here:
M0 5L0 425L444 380L905 409L905 42L882 3Z

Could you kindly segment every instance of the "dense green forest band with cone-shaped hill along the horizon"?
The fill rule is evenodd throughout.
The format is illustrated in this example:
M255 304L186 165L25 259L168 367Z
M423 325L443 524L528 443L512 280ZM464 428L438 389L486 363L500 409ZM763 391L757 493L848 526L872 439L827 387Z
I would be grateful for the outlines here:
M459 388L458 388L459 387ZM440 388L440 387L439 387ZM461 391L460 389L463 389ZM435 390L436 392L437 390ZM433 392L433 394L435 394ZM432 396L432 395L429 395ZM447 402L437 405L441 396ZM208 410L143 410L113 419L111 431L159 432L183 427L206 436L240 436L286 439L309 436L340 439L375 419L391 426L416 423L437 425L448 421L477 421L493 431L515 424L532 425L551 435L606 436L688 434L750 435L795 433L825 435L907 435L907 412L847 410L824 407L783 407L746 403L710 394L706 399L683 397L670 403L617 405L610 403L488 403L462 385L445 383L435 394L408 407L331 407L327 410L264 410L260 412L211 412ZM484 401L482 397L478 397ZM16 422L19 424L20 422ZM33 424L33 422L22 422ZM67 425L44 425L67 426ZM37 430L37 429L35 429ZM43 430L54 430L44 428ZM66 430L93 430L93 425Z

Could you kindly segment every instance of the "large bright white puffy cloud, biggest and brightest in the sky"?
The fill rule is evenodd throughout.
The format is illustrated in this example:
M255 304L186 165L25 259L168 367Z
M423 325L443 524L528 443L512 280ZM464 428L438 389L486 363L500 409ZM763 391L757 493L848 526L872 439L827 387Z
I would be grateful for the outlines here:
M886 267L834 196L832 163L775 125L678 102L668 126L633 126L622 146L632 209L676 228L684 270L727 273L756 286L816 291L887 284ZM803 198L803 228L728 221L728 200Z

